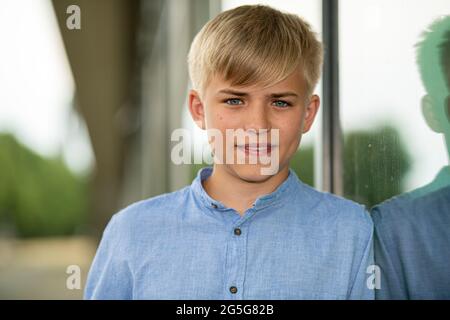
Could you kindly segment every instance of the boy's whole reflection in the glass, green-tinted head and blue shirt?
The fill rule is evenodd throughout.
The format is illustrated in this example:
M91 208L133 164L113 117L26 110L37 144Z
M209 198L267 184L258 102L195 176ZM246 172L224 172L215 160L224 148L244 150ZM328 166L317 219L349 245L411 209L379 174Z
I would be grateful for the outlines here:
M450 16L424 32L417 63L426 89L424 120L444 136L450 156ZM432 182L375 206L372 217L381 268L377 297L450 299L450 167L441 168Z

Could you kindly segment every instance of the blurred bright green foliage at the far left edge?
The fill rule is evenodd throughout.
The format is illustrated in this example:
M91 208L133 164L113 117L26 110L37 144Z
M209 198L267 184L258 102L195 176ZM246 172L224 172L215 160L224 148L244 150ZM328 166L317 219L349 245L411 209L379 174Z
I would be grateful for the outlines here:
M19 237L76 233L88 211L87 177L0 134L0 231Z

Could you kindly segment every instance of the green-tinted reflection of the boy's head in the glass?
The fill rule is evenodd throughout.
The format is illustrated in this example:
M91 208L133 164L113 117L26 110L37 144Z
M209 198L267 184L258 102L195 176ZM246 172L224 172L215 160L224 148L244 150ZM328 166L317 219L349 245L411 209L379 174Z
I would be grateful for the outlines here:
M429 127L446 136L450 153L450 16L436 20L417 44L417 63L427 95L422 110Z

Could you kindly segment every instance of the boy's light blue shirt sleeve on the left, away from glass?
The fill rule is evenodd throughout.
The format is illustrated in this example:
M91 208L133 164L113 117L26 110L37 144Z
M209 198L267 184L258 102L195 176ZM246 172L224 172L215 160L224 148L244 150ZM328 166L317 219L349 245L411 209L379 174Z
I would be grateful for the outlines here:
M114 215L103 232L86 281L84 299L132 299L133 279L123 239Z

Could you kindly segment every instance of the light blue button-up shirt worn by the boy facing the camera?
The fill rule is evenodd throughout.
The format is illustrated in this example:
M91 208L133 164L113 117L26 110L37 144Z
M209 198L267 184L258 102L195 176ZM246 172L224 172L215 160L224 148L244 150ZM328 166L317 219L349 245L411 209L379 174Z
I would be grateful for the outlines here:
M106 227L86 299L373 299L365 208L292 169L242 216L191 185L137 202Z

